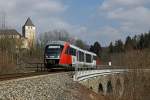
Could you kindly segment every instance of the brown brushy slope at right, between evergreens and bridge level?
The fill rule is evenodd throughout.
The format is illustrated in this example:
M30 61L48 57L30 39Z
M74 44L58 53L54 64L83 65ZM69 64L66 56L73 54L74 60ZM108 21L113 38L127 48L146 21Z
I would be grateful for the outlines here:
M150 49L112 54L112 65L127 68L150 68Z

